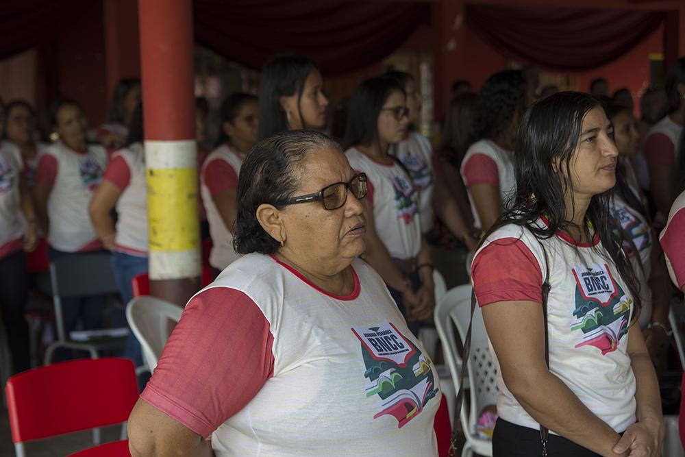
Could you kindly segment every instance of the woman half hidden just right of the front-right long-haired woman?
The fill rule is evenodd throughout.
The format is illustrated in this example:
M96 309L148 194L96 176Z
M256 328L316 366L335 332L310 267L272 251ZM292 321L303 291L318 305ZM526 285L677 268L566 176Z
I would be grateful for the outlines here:
M653 233L647 199L640 190L637 174L630 158L638 153L640 135L632 110L625 106L609 105L606 113L614 125L614 143L619 151L616 163L616 186L610 201L614 217L614 231L621 238L633 270L640 281L640 327L645 343L658 366L665 360L664 349L669 345L669 301L671 288L662 251Z

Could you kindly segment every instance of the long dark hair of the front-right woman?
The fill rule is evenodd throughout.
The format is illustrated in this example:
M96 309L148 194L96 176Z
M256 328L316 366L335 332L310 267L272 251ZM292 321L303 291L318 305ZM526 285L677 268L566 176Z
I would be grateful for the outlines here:
M526 227L538 239L555 236L560 230L573 226L566 221L564 190L573 196L573 184L564 177L560 180L553 168L553 162L571 169L573 153L580 141L585 115L593 108L603 108L595 97L582 92L558 92L533 103L523 115L514 153L516 192L508 201L508 210L490 227L485 240L504 225L514 224ZM640 286L630 262L622 254L621 244L612 232L609 198L612 191L594 195L586 211L586 219L592 223L599 235L601 245L627 284L640 309ZM573 208L575 210L575 208ZM547 225L538 225L540 217L546 217ZM578 227L588 239L593 239L590 227ZM482 243L482 241L481 241ZM598 254L604 254L597 249ZM604 256L606 258L606 256ZM637 315L637 313L636 313Z

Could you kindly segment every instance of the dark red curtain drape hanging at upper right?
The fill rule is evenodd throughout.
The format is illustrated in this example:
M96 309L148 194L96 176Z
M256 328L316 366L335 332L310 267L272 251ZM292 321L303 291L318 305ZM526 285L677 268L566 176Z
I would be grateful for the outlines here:
M466 24L508 58L552 71L596 69L653 32L664 12L467 5Z

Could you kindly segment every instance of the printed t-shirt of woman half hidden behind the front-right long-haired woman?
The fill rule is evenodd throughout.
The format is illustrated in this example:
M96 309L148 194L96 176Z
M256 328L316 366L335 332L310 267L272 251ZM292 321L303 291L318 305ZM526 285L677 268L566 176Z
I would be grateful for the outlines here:
M651 249L653 249L656 237L647 219L639 211L625 203L618 195L614 194L610 200L610 208L614 219L621 224L623 233L617 234L623 239L623 251L630 259L633 271L640 281L642 309L640 310L638 322L640 323L640 328L646 328L649 321L651 321L652 293L649 287L649 277L651 276L652 268Z

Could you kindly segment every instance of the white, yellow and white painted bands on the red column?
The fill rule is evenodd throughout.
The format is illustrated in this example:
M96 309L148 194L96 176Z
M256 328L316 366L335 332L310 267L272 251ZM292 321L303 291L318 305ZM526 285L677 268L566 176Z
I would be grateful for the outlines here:
M201 273L195 141L145 141L149 276L173 280Z

